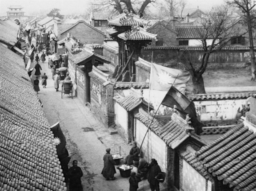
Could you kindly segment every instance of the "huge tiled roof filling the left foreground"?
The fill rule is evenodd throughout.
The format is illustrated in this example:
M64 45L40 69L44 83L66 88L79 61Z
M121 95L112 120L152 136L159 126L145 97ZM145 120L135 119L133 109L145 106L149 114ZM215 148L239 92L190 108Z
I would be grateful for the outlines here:
M2 45L0 75L0 190L66 190L53 134L24 61ZM8 183L15 178L28 183Z

